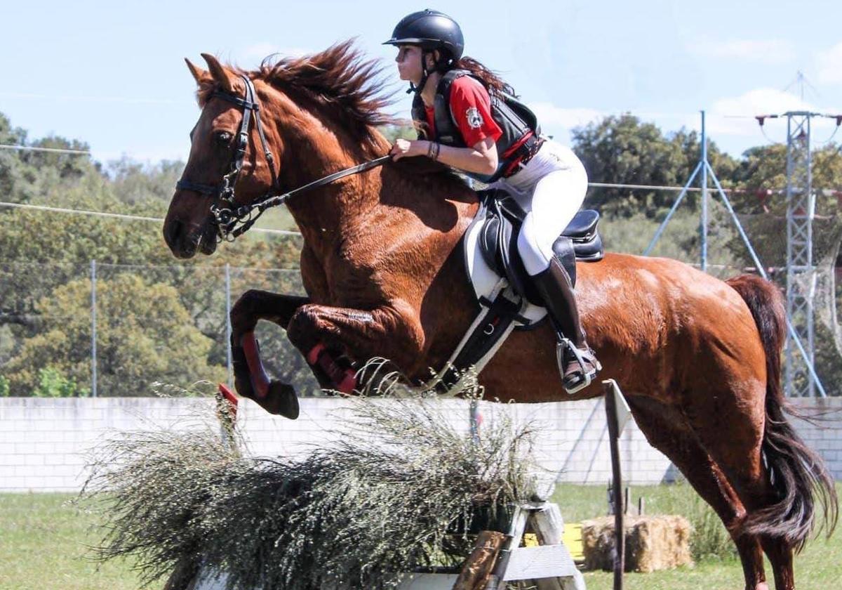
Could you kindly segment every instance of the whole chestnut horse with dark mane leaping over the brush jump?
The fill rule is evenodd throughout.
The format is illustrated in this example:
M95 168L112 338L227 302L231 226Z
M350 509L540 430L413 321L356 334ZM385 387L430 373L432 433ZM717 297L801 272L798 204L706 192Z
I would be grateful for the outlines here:
M247 127L242 174L234 180L237 205L388 152L377 131L392 122L381 115L388 102L379 70L350 42L274 66L264 62L254 72L204 57L208 71L188 62L202 111L163 228L179 258L216 249L210 212L216 197L189 187L219 185L229 171L243 119L242 105L230 97L248 95L243 76L255 88L265 148L274 158L264 155L256 126ZM479 309L461 251L478 208L472 190L439 164L406 158L302 193L287 206L304 237L307 297L242 295L231 314L235 356L242 361L242 343L264 319L284 328L311 364L325 350L349 362L389 358L413 380L442 367ZM676 260L633 255L607 254L579 264L577 274L582 321L605 366L602 378L621 383L647 440L722 518L746 588L768 588L764 552L775 587L793 588L793 550L811 534L819 505L833 527L837 500L821 459L784 414L780 293L756 276L722 282ZM600 395L596 384L564 392L555 347L546 323L515 331L479 381L501 401ZM313 370L322 385L338 385L341 375ZM236 373L240 394L280 411L289 385L257 392L248 364L238 362Z

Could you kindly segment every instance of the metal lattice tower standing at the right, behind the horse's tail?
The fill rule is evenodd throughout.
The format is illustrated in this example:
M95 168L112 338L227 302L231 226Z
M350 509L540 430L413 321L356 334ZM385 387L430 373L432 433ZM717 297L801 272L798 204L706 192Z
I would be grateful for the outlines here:
M815 113L794 111L786 116L786 315L801 340L808 362L815 361L813 295L813 217L816 199L810 157L810 118ZM784 375L786 394L815 395L813 373L786 336Z

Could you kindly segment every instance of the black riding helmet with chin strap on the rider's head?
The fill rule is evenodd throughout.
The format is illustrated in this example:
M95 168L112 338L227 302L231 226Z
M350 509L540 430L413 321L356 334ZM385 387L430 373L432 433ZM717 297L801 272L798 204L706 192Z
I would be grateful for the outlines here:
M429 72L424 56L437 49L442 51L443 56L436 67L444 68L451 60L456 62L462 56L462 51L465 50L465 38L454 19L445 13L427 8L403 17L392 31L392 39L384 41L383 45L421 47L421 67L424 70L424 76L418 83L418 87L409 83L407 93L410 93L420 92L424 88L424 83L427 82Z

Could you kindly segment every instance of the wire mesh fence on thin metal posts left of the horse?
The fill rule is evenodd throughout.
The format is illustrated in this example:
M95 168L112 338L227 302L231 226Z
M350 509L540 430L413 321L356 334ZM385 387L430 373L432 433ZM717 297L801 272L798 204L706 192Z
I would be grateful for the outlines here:
M231 383L228 318L252 288L304 293L298 269L0 263L0 394L183 395ZM257 335L271 374L320 393L282 328L261 322Z

